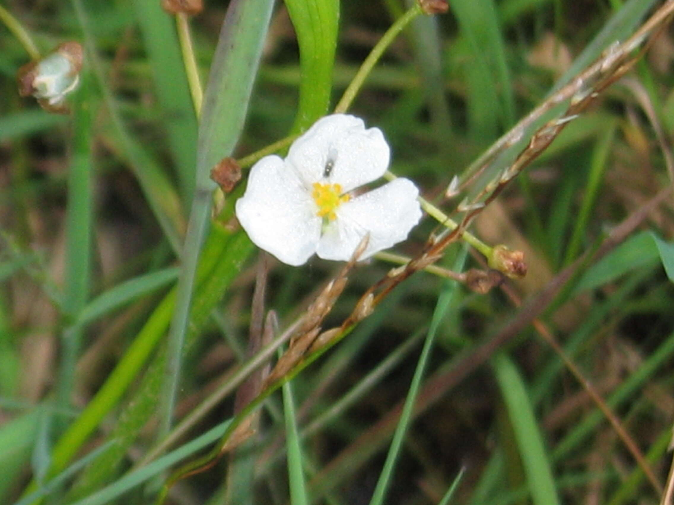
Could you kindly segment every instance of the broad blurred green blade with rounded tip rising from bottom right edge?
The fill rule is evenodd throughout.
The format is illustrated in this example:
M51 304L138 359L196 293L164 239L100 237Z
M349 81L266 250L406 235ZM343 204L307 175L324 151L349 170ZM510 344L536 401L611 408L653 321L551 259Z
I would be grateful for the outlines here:
M559 504L555 479L529 394L514 363L504 354L493 359L501 395L515 432L526 481L536 505Z

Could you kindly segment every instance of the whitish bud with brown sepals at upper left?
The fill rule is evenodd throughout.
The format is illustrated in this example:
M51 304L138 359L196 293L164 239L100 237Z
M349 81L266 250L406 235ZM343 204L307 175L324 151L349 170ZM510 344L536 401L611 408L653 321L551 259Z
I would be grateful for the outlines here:
M34 96L49 112L67 112L65 97L80 82L82 60L78 42L63 42L41 60L26 63L17 73L20 96Z

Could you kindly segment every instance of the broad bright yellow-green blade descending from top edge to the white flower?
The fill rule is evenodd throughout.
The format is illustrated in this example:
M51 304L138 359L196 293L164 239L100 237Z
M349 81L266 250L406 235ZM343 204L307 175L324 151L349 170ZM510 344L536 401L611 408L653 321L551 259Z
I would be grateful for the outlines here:
M339 0L286 0L300 53L299 107L293 131L328 112L337 47Z

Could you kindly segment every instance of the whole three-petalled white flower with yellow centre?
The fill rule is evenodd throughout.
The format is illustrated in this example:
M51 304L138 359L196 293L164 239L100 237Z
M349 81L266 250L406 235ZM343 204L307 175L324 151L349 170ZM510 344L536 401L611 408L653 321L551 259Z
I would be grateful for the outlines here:
M384 175L389 158L381 130L365 129L355 116L326 116L290 146L285 160L266 156L251 168L237 201L239 222L257 246L288 265L302 265L314 253L346 261L369 234L365 259L405 240L421 218L419 190L408 179L351 193Z

